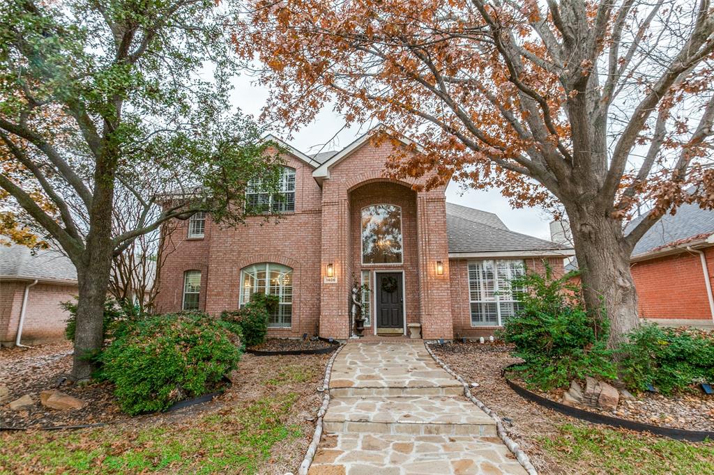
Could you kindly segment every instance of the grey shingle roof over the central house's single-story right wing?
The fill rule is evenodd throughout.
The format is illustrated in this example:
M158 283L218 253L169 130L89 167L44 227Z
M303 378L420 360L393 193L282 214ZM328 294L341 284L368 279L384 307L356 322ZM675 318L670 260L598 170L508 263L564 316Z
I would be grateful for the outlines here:
M448 252L458 255L572 255L573 250L506 228L498 216L461 205L446 205Z

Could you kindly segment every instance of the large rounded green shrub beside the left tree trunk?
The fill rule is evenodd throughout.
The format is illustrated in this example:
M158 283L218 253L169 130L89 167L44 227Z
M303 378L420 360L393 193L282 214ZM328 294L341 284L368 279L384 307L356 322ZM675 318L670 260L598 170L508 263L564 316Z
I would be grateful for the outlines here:
M116 385L124 412L162 411L211 392L240 355L228 330L206 314L157 315L126 325L102 352L99 376Z

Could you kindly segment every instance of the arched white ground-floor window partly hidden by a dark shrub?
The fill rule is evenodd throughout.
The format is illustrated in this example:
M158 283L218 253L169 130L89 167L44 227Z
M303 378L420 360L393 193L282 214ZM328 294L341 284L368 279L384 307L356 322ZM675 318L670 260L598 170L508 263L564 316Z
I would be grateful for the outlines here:
M261 262L243 268L238 305L246 305L256 292L278 296L278 308L268 318L268 327L289 328L293 315L293 270L275 262Z

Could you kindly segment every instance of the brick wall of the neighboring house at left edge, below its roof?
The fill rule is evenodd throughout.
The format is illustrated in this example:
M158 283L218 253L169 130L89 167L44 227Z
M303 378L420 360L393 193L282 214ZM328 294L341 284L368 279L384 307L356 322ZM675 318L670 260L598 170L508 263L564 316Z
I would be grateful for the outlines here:
M31 281L0 280L0 345L15 344L20 321L25 287ZM29 288L22 344L39 344L64 338L69 314L59 307L60 302L73 300L76 285L38 283Z

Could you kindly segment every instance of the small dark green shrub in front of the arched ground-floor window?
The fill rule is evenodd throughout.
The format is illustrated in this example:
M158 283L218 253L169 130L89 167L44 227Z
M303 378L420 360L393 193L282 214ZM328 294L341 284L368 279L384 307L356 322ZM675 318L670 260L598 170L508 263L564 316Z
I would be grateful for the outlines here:
M268 317L278 311L279 302L277 295L256 293L240 310L221 313L221 321L240 332L246 346L253 347L266 341Z

